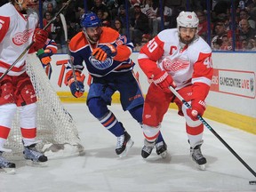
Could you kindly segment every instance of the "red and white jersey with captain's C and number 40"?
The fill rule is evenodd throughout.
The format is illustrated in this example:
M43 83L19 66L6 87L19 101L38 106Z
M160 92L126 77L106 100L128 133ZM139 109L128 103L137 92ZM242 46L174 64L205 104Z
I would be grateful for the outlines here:
M165 29L141 48L138 61L149 79L156 70L167 71L177 90L195 83L210 88L212 49L200 36L182 48L178 29Z

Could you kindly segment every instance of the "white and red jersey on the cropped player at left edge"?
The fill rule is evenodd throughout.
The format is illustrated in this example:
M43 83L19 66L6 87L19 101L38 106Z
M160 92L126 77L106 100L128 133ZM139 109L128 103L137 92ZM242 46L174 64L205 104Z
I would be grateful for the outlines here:
M0 73L10 68L31 44L37 23L38 15L32 9L24 16L11 3L0 7ZM26 70L27 54L15 64L9 76L19 76Z

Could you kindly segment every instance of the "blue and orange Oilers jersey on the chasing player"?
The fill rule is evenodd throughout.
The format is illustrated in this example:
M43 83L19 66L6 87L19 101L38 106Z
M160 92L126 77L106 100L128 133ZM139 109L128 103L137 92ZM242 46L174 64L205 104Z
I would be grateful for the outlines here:
M74 68L82 72L85 64L88 72L97 77L111 76L111 73L116 74L132 70L134 62L129 57L133 51L133 44L127 42L126 36L121 36L113 28L102 27L101 29L100 39L96 45L87 41L84 32L79 32L71 39L69 50ZM114 44L117 50L116 56L114 58L108 57L103 61L96 60L92 57L92 51L100 44ZM70 65L67 68L70 69Z

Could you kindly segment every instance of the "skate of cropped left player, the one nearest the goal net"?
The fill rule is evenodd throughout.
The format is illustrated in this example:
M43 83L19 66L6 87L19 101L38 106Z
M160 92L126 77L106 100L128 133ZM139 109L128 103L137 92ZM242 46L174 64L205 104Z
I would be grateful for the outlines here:
M24 146L23 151L25 159L29 159L33 162L31 165L46 165L46 162L48 160L47 156L44 156L44 154L40 153L36 149L36 144L32 144L30 146Z

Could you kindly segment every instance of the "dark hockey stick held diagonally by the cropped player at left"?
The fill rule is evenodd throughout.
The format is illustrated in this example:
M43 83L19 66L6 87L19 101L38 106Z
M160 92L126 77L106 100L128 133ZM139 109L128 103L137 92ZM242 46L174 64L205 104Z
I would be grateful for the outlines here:
M70 4L72 1L73 1L73 0L68 0L68 2L67 2L66 4L64 4L64 5L60 8L60 11L55 14L55 16L52 18L52 20L50 20L50 21L44 26L43 30L45 30L46 28L48 28L48 27L52 24L52 22L53 22L54 20L56 20L56 17L57 17L58 15L60 15L60 12L62 12L66 7L68 7L68 4ZM2 76L0 76L0 81L4 78L4 76L6 76L6 75L9 73L9 71L12 70L12 68L19 62L19 60L26 54L26 52L28 52L28 50L31 48L31 46L32 46L33 44L35 44L35 41L34 41L34 40L32 40L32 42L31 42L30 44L28 44L28 46L26 47L26 49L25 49L23 52L21 52L20 56L17 58L17 60L15 60L15 61L12 63L12 65L10 66L10 68L8 68L8 69L2 74Z

